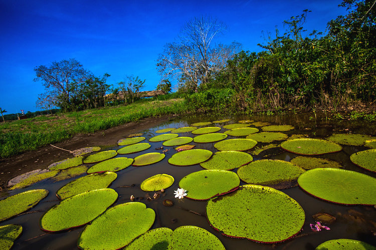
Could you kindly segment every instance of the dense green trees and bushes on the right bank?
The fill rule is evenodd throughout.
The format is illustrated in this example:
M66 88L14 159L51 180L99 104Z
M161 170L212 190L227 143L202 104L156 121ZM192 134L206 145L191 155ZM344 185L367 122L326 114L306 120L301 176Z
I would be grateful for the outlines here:
M222 99L222 105L257 111L297 106L335 110L353 102L374 102L374 5L373 0L344 0L340 6L347 7L348 14L329 21L325 35L316 30L304 35L308 10L285 20L286 33L276 30L274 39L259 44L265 49L262 52L235 54L209 83L200 86L202 93L188 98L189 103L196 108L217 107L215 102Z

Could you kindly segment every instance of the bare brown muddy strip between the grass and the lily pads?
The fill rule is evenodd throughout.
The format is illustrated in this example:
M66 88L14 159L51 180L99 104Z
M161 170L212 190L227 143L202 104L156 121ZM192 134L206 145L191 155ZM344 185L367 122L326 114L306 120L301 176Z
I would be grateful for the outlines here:
M128 134L140 132L174 118L176 116L145 118L91 134L77 134L71 139L54 143L54 145L68 150L87 146L115 146L119 139ZM53 162L71 157L73 157L72 153L48 145L35 151L0 159L0 190L6 188L8 180L13 177L34 169L45 169Z

